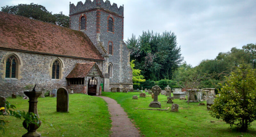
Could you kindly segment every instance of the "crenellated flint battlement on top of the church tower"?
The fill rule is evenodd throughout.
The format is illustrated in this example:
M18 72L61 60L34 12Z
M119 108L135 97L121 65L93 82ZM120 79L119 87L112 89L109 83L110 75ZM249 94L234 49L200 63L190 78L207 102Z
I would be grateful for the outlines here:
M106 0L105 2L103 0L86 0L83 4L81 1L78 2L75 6L75 4L69 4L69 15L83 12L83 11L89 11L96 8L102 8L106 11L110 11L113 13L116 13L120 16L124 16L124 5L117 7L117 4L113 3L110 4L110 1Z

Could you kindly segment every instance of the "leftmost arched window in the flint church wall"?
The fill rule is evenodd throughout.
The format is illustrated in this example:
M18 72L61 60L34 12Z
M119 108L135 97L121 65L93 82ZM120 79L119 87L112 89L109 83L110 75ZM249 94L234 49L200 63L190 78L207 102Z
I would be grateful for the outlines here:
M18 60L13 55L7 58L5 77L6 78L17 78Z

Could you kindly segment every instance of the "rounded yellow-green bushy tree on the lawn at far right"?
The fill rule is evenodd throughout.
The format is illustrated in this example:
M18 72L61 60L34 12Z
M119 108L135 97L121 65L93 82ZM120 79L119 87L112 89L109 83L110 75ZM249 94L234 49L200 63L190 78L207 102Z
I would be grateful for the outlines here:
M223 119L240 132L246 132L256 119L255 76L255 70L249 65L239 65L231 76L226 77L227 83L222 86L211 107L211 116Z

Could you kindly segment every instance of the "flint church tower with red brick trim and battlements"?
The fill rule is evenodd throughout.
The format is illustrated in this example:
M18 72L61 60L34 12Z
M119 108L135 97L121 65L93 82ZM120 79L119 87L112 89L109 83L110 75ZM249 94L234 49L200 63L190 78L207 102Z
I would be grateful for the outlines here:
M124 39L124 6L108 0L86 0L69 5L69 28L84 32L100 51L104 91L111 87L132 88L130 53Z

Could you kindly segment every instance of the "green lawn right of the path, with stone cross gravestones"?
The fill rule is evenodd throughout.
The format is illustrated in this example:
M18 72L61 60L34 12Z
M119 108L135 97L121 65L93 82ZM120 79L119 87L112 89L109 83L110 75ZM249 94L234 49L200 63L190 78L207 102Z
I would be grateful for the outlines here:
M138 96L132 99L133 95ZM174 103L179 104L179 112L140 110L135 108L149 108L148 105L153 99L146 93L147 97L139 97L138 92L129 93L111 93L102 92L102 96L115 99L124 111L128 113L129 118L139 128L142 136L179 136L179 137L255 137L256 122L252 123L247 133L239 133L220 119L214 119L210 116L206 106L198 106L198 103L187 104L186 100L174 99ZM162 108L171 107L167 104L167 97L160 95L158 101ZM206 104L206 101L203 101ZM170 109L171 110L171 109ZM215 121L211 123L211 121Z

